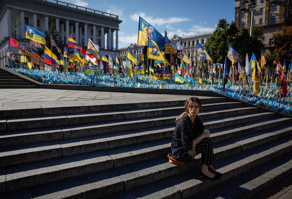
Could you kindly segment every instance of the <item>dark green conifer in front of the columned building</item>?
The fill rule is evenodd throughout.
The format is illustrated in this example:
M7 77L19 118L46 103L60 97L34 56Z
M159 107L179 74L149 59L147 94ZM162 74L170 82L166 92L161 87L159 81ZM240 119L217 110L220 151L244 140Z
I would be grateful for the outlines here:
M56 29L56 24L55 24L55 21L56 21L56 19L55 19L55 17L52 17L52 19L51 19L51 21L50 21L50 27L49 27L49 29L47 29L46 31L45 31L45 35L46 35L46 46L51 50L51 49L53 49L52 51L53 51L53 53L58 57L58 59L60 59L60 53L58 52L58 50L57 50L57 48L56 47L52 47L51 46L51 39L50 39L50 33L52 34L52 36L53 36L53 38L54 38L54 40L55 40L55 42L58 44L58 46L59 46L59 48L61 49L61 50L63 50L64 49L64 44L62 43L62 40L61 40L61 38L60 38L60 35L59 35L59 32L57 31L57 29ZM52 48L51 48L52 47ZM38 48L38 50L37 50L37 54L39 54L39 55L43 55L44 54L44 49L42 49L42 48Z

